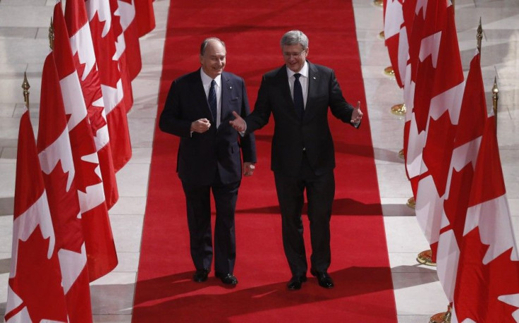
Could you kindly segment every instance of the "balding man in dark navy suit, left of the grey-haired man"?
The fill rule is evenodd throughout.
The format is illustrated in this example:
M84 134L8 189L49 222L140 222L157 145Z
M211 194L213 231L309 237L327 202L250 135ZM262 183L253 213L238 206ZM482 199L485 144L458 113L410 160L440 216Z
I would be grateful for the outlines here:
M224 72L226 47L211 37L200 46L197 71L173 81L159 127L181 138L177 172L185 193L190 252L196 272L193 280L207 280L212 258L211 202L216 206L214 272L224 284L236 285L234 213L242 176L252 175L256 162L254 135L238 134L228 121L233 114L250 112L242 78Z

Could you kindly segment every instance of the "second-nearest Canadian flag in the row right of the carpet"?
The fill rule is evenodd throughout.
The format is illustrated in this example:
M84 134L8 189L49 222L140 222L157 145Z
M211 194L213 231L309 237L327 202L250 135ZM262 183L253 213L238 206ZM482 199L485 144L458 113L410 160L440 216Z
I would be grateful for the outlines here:
M484 97L480 53L477 52L470 62L458 127L453 138L454 147L448 171L444 214L441 217L436 257L438 276L450 302L454 298L470 187L486 119L487 104ZM463 252L470 253L471 251L464 250Z

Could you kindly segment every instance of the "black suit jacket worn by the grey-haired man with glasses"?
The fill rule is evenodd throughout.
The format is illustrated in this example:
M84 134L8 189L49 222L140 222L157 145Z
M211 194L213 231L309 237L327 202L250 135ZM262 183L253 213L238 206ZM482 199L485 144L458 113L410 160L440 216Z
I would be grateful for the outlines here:
M263 75L254 111L247 118L247 133L262 128L274 116L271 170L296 176L303 161L303 148L317 174L334 169L334 142L328 125L328 107L336 118L350 124L353 106L343 97L335 73L330 68L309 64L307 103L300 121L286 66Z

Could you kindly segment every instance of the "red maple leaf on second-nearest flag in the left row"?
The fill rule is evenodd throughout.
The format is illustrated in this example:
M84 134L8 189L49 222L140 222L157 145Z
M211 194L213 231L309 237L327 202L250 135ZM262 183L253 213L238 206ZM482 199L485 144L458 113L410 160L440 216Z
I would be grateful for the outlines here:
M61 161L49 173L43 173L49 209L51 211L52 225L56 235L56 249L61 248L81 253L83 245L83 231L79 200L75 181L67 191L68 172L64 172Z

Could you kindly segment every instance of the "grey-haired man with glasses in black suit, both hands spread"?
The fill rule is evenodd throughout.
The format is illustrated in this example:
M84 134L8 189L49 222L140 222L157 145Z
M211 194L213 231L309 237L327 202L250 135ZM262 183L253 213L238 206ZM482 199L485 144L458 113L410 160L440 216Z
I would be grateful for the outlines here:
M231 125L240 133L252 133L274 116L271 170L281 209L283 248L292 272L287 287L297 290L306 281L307 260L303 241L304 190L312 240L310 273L324 288L334 287L328 274L331 262L330 217L334 201L334 142L328 125L328 109L345 123L358 127L360 107L343 97L330 68L306 60L308 38L299 30L281 37L285 65L263 75L254 111L243 118L235 114Z

